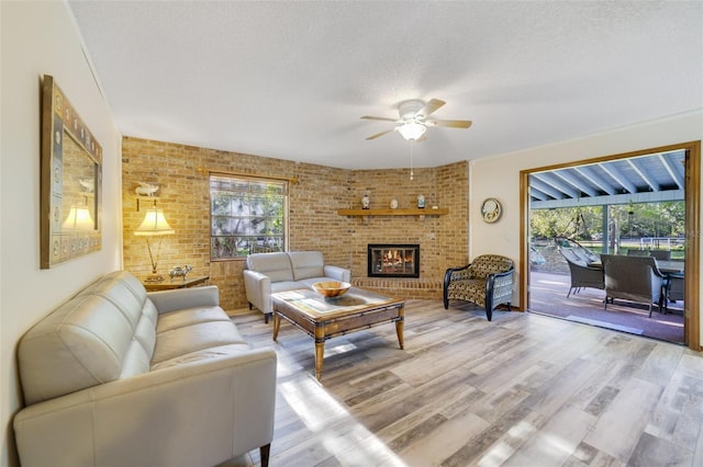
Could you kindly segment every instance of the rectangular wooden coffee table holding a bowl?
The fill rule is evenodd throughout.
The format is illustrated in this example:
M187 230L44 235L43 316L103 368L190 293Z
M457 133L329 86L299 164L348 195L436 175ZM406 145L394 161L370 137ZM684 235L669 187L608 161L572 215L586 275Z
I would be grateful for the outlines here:
M352 287L336 298L324 298L305 288L272 294L274 340L278 339L281 318L315 340L315 377L322 377L325 341L336 335L372 328L387 322L395 323L398 343L403 349L405 303L361 288Z

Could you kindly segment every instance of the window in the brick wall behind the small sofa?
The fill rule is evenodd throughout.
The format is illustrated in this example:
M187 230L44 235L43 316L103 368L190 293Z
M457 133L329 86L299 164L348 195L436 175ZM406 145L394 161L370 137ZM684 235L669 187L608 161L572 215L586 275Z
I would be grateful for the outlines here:
M288 182L210 175L210 259L286 250Z

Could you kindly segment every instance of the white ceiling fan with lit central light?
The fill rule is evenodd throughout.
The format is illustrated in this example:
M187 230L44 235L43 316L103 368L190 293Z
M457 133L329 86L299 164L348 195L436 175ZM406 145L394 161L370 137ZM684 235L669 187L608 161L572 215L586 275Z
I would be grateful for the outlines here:
M423 102L416 99L410 101L403 101L398 105L398 113L400 118L376 117L364 115L362 119L376 119L381 122L393 122L395 126L386 132L371 135L369 139L376 139L392 132L398 132L403 138L409 141L416 141L426 139L425 132L431 126L445 126L449 128L468 128L471 126L471 122L468 119L427 119L435 111L442 107L446 102L439 99L431 99L428 102Z

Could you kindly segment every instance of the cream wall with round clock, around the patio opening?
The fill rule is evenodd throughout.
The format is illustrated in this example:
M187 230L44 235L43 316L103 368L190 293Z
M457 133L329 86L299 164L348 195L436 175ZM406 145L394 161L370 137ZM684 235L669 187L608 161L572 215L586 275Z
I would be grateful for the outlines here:
M470 257L494 252L512 258L515 262L520 260L521 171L701 139L703 110L499 157L472 160L469 164ZM701 184L703 185L703 180ZM481 221L480 205L487 197L498 198L503 206L503 217L495 224ZM701 241L700 236L696 239ZM520 291L513 297L515 304L518 303L518 297Z

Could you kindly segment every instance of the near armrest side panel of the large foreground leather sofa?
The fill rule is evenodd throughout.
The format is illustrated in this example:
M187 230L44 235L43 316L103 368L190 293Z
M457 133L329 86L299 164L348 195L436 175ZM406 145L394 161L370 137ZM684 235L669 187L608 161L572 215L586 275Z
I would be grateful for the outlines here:
M276 353L256 349L105 383L21 410L22 465L216 465L274 436Z

